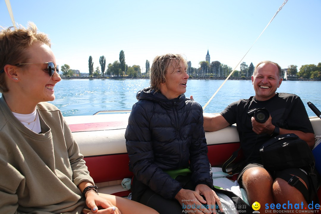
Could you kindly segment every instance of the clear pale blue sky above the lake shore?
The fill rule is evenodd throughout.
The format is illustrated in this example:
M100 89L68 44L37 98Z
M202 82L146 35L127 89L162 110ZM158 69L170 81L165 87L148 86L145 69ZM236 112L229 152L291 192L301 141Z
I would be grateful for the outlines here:
M104 55L108 63L124 50L126 64L140 65L156 55L179 53L193 67L218 60L234 68L271 20L283 0L230 1L71 1L11 0L15 22L33 21L49 34L57 64L88 73ZM244 58L291 64L321 62L321 0L289 0ZM0 26L12 26L0 0Z

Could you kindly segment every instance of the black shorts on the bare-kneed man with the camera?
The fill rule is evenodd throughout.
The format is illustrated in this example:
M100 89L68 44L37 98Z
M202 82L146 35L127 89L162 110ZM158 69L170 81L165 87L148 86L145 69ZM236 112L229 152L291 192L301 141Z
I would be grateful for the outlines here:
M245 165L245 167L243 168L243 170L240 172L239 176L238 176L238 183L240 184L240 186L243 188L243 184L242 184L242 175L243 173L252 167L260 167L260 168L264 168L263 165L261 163L259 163L258 161L256 161L257 163L249 163L247 165ZM268 170L267 170L268 171ZM311 187L310 182L309 182L309 177L308 177L308 171L307 169L300 169L300 168L288 168L288 169L284 169L282 171L268 171L270 173L270 175L272 176L273 180L275 180L276 178L282 178L283 174L288 174L288 175L295 175L299 178L301 178L304 183L307 184L308 186L308 190L310 188L314 188ZM285 180L285 179L284 179ZM286 180L287 181L287 180ZM297 188L297 186L294 186ZM298 188L297 188L298 189ZM309 201L309 191L301 191L300 189L298 189L304 196L304 198Z

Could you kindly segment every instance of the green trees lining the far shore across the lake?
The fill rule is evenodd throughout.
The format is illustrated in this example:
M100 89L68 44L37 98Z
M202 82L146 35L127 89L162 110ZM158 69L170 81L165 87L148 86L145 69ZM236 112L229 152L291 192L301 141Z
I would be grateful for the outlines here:
M64 79L146 79L150 69L150 62L146 60L145 68L139 65L128 66L125 62L125 53L123 50L119 53L119 61L109 63L106 68L105 56L99 58L100 66L94 69L92 57L88 60L88 73L80 73L79 70L70 69L68 64L61 66L62 78ZM225 80L232 72L232 68L219 61L199 62L200 67L194 68L190 61L187 62L187 73L190 79L208 79L208 80ZM240 70L234 71L230 80L250 80L254 71L253 63L247 65L246 62L240 64ZM321 63L306 64L299 68L297 65L289 65L288 68L282 69L282 77L287 73L287 80L291 81L321 81Z

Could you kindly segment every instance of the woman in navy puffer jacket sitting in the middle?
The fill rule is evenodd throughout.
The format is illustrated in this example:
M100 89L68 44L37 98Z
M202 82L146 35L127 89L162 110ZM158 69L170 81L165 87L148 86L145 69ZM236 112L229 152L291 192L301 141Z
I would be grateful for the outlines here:
M184 95L186 70L180 55L155 57L151 87L137 93L125 133L134 172L132 199L160 214L182 209L215 212L215 201L221 207L211 189L203 110Z

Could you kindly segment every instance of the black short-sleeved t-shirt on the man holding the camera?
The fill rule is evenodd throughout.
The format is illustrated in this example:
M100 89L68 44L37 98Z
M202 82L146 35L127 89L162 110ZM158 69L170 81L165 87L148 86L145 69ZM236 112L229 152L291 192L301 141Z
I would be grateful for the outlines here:
M273 98L266 101L258 101L253 96L233 102L220 114L228 123L236 123L245 158L253 152L249 161L260 158L259 148L271 138L269 134L258 135L252 131L251 116L247 112L254 108L266 108L275 126L314 133L304 104L295 94L276 93Z

